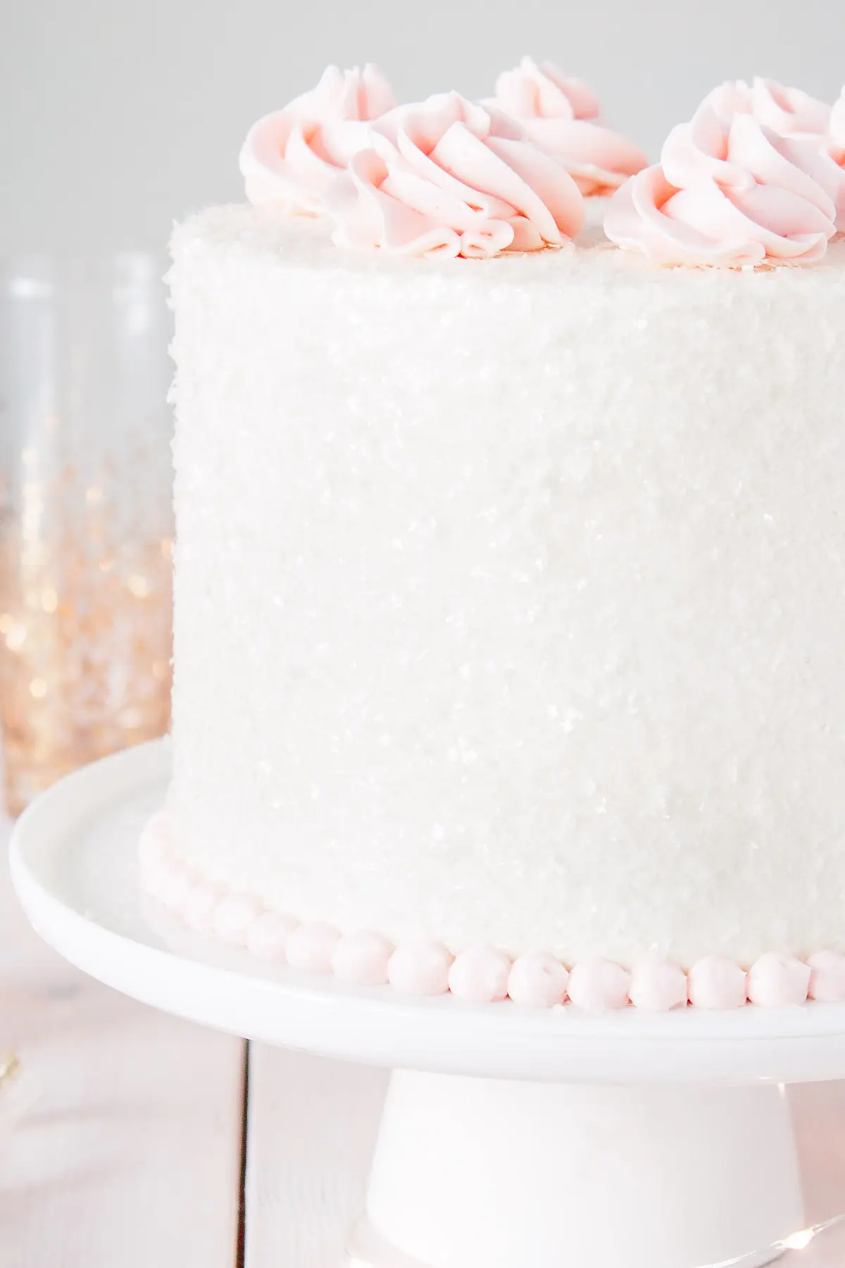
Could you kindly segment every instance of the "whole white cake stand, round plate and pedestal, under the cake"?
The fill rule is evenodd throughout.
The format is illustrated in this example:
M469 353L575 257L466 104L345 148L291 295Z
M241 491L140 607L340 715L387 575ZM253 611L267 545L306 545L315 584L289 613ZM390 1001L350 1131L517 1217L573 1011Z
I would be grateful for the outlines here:
M264 965L141 895L136 843L168 776L157 742L39 798L13 837L20 902L66 959L136 999L394 1068L352 1262L754 1268L807 1244L784 1084L845 1077L845 1007L594 1017Z

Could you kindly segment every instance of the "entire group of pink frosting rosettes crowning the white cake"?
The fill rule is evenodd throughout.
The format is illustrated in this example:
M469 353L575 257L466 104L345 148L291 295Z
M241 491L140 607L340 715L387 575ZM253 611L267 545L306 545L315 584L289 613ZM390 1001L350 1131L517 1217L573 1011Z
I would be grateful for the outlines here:
M483 103L407 105L371 65L329 67L253 124L241 170L272 216L317 218L337 247L383 256L571 249L600 199L607 238L651 264L815 265L845 231L845 90L831 108L773 80L722 84L647 166L547 62L523 58Z

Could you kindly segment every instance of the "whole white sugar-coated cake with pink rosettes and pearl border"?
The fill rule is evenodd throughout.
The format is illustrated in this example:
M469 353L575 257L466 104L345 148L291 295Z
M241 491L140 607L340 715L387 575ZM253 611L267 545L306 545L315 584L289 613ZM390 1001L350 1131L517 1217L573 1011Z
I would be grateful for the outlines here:
M725 86L647 167L513 75L394 109L327 72L252 129L252 200L175 231L144 884L395 989L845 998L830 112Z

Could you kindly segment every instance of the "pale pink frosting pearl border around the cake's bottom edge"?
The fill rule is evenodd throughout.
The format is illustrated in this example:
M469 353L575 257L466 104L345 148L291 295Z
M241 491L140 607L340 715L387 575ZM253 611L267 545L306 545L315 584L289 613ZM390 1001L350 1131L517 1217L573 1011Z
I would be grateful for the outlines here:
M454 956L440 942L393 946L369 929L341 933L323 923L300 923L267 910L257 899L227 893L203 880L174 848L166 812L153 815L138 843L142 888L190 929L265 960L309 973L334 974L356 985L389 984L408 995L443 995L470 1003L512 999L530 1008L565 1003L589 1012L635 1007L670 1012L696 1007L764 1008L845 1000L845 955L818 951L799 960L769 951L750 969L722 956L704 956L689 971L660 956L623 969L609 960L581 960L566 969L550 951L512 960L497 947L469 947Z

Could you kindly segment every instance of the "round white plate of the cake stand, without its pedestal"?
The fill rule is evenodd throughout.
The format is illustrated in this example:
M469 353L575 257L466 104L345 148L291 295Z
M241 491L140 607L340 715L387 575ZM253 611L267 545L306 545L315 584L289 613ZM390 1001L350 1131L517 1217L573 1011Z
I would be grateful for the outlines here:
M134 841L125 825L120 839L117 823L133 798L148 794L155 809L170 765L166 738L103 758L42 794L13 829L11 879L30 923L76 967L123 994L275 1046L443 1074L590 1083L845 1077L845 1004L589 1016L570 1006L535 1011L509 1000L414 999L386 987L356 988L266 966L245 951L177 935L168 917L158 922L163 935L152 923L146 932L143 917L139 923L125 902L127 886L136 894ZM108 858L99 841L86 846L98 824ZM61 866L72 862L73 848L79 858L87 848L90 858L80 865L81 889L71 900ZM108 907L115 885L106 877L95 898L104 862L124 890L123 908L115 904L105 917L95 914L96 903ZM186 946L174 946L177 937Z

